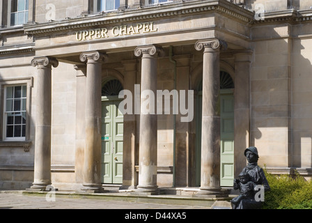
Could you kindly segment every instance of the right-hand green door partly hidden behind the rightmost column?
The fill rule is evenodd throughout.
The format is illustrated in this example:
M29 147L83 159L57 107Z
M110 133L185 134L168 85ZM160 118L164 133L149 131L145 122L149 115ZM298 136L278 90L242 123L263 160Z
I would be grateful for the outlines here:
M196 186L201 185L201 115L202 92L198 92L196 124ZM234 95L233 91L221 89L220 94L220 185L232 187L234 179Z

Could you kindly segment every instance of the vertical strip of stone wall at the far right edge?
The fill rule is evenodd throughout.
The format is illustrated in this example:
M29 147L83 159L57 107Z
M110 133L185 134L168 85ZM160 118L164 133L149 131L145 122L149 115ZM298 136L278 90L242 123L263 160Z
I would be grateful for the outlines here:
M312 39L298 38L308 33L311 24L296 25L292 40L292 164L293 167L312 166Z

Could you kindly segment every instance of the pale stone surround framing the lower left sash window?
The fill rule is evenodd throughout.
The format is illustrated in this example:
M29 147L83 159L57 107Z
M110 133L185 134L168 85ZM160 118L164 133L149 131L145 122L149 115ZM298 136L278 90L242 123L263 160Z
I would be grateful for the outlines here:
M6 137L6 89L10 86L26 86L26 126L25 126L25 137ZM29 130L30 130L30 117L31 117L31 88L33 87L33 77L26 77L23 79L10 79L6 81L0 80L0 96L1 96L1 121L0 141L29 141Z

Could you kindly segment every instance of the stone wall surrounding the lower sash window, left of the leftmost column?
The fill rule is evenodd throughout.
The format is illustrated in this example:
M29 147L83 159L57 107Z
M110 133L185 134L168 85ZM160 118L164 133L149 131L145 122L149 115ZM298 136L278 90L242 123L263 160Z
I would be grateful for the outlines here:
M0 84L7 83L29 83L33 85L35 70L31 67L30 61L33 55L20 54L19 57L6 56L1 58ZM12 69L13 66L17 66ZM19 80L20 79L20 80ZM1 82L5 80L5 82ZM27 89L31 98L31 110L29 110L29 139L30 143L1 142L0 144L0 189L20 190L31 186L33 183L33 156L34 156L34 118L36 117L36 89L32 86ZM0 98L3 98L1 86ZM0 100L2 102L2 99ZM2 105L2 103L1 103ZM0 108L1 108L0 105ZM2 108L1 108L2 109ZM1 112L2 114L2 112ZM3 121L0 121L1 125ZM1 126L1 129L3 127ZM2 134L2 131L0 131ZM2 139L2 136L1 136Z

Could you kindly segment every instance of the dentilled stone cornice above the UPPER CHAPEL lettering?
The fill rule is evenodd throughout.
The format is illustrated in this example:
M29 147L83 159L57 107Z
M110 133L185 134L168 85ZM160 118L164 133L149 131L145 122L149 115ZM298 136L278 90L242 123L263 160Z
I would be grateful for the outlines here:
M24 32L27 35L44 35L61 31L88 29L93 26L114 25L122 22L140 22L157 20L163 17L179 15L192 15L198 13L217 12L244 23L253 21L254 13L226 0L191 1L186 3L168 3L163 6L140 8L139 10L125 10L122 13L105 13L77 17L75 19L61 20L42 24L25 24Z

